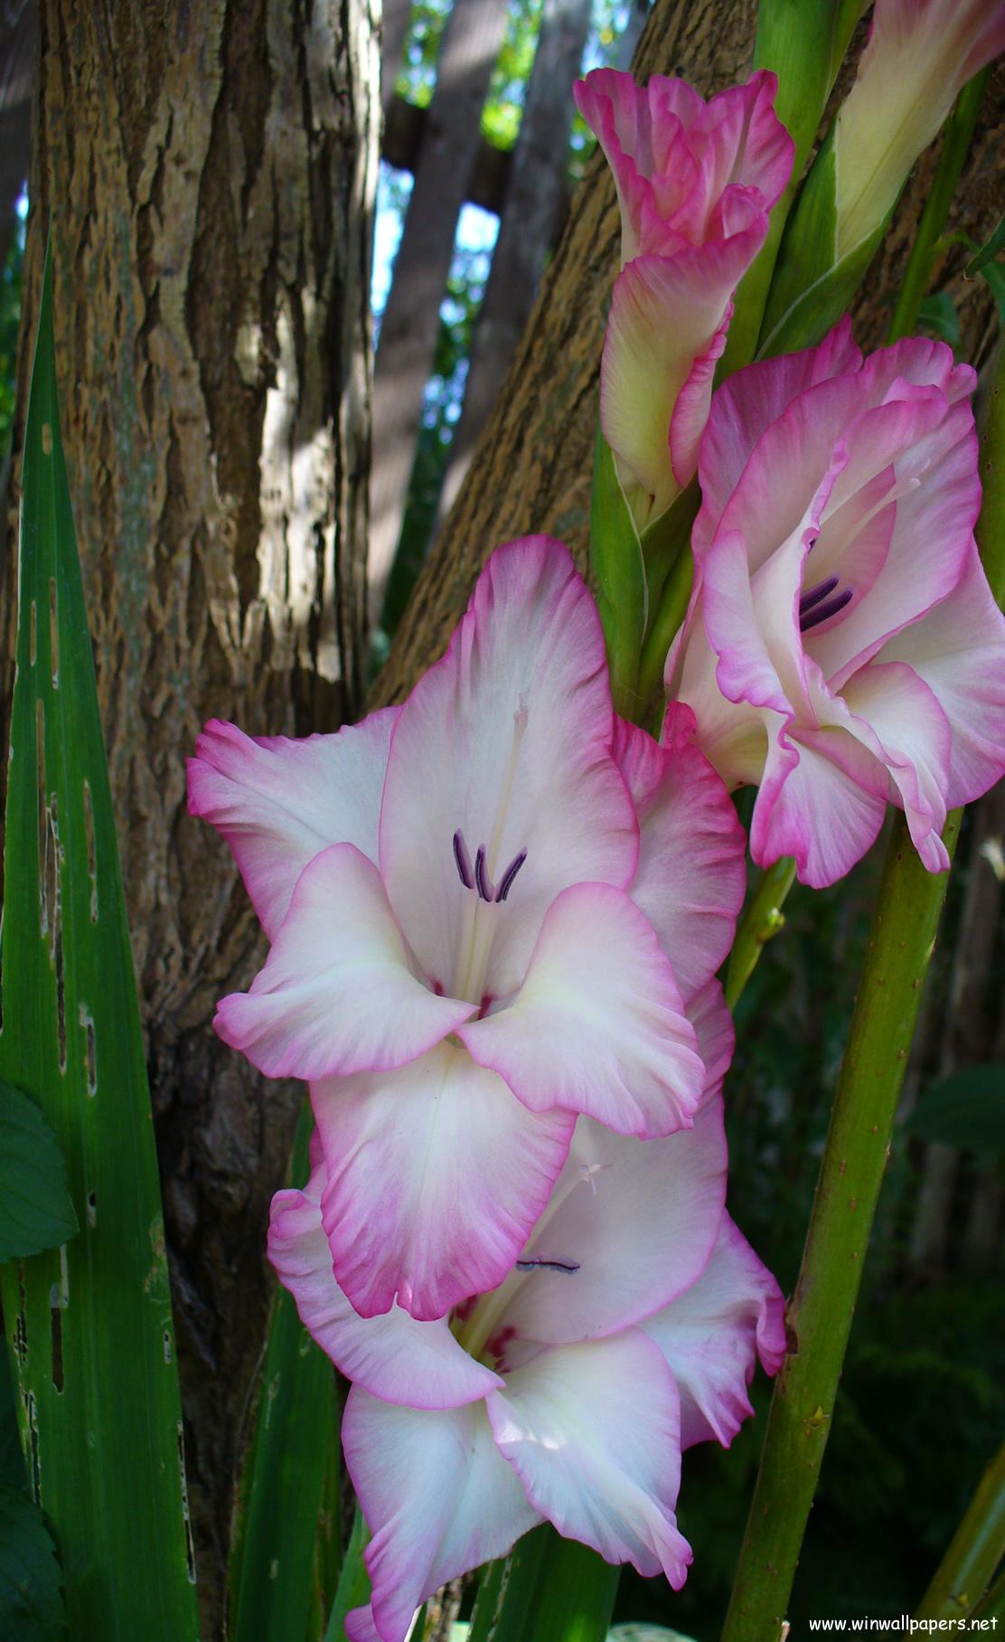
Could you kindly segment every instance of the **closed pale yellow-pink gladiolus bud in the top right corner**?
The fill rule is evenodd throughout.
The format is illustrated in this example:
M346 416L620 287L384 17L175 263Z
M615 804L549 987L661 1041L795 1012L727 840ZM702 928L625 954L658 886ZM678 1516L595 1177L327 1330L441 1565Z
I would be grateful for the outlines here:
M1000 51L1003 0L877 0L834 128L834 261L880 227L962 87Z

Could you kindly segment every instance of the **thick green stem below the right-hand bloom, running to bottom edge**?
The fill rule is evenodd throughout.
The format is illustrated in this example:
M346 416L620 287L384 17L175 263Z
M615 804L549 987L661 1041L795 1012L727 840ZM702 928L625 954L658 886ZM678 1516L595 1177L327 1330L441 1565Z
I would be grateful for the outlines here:
M946 823L949 857L959 823L961 811ZM925 870L897 816L723 1642L782 1634L946 882Z

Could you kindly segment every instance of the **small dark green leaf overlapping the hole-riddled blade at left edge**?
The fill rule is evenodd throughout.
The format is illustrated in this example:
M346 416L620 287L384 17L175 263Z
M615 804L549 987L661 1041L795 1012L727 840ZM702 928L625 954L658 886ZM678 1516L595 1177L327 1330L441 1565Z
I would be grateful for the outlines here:
M0 1259L59 1248L76 1230L53 1130L34 1100L0 1082Z

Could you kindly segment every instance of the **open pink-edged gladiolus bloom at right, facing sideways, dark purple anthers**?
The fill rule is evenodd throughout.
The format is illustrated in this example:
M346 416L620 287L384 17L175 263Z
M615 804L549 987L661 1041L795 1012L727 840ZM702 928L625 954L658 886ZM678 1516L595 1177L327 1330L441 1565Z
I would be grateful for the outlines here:
M974 371L939 342L869 360L847 322L718 392L695 593L667 660L750 851L841 878L887 803L929 872L946 811L1005 770L1005 621L974 542Z

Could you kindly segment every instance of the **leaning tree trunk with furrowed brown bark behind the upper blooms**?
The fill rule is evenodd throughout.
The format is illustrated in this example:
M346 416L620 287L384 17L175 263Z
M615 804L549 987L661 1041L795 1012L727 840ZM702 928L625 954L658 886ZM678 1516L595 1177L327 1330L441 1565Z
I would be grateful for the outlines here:
M755 13L754 0L657 0L634 57L636 77L681 74L704 97L746 79ZM851 84L864 33L862 25L831 108ZM829 113L824 130L828 123ZM979 243L1005 212L1005 172L997 161L1003 135L1005 67L998 66L949 223ZM864 348L883 342L890 297L906 263L936 158L938 144L921 156L892 233L859 294L854 320L856 338ZM598 151L573 200L496 410L415 585L373 704L401 701L422 668L445 649L481 565L501 542L545 530L568 542L586 568L599 360L619 236L614 184ZM982 281L962 279L966 259L962 246L951 248L933 271L933 291L948 287L952 292L962 356L980 361L995 333L994 302Z

